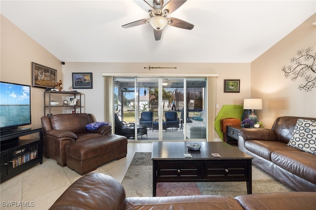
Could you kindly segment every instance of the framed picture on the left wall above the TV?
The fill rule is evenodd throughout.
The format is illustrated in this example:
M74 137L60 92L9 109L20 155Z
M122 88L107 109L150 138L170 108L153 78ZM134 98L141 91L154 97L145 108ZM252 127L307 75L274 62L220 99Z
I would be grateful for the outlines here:
M55 88L57 70L32 62L33 87Z

